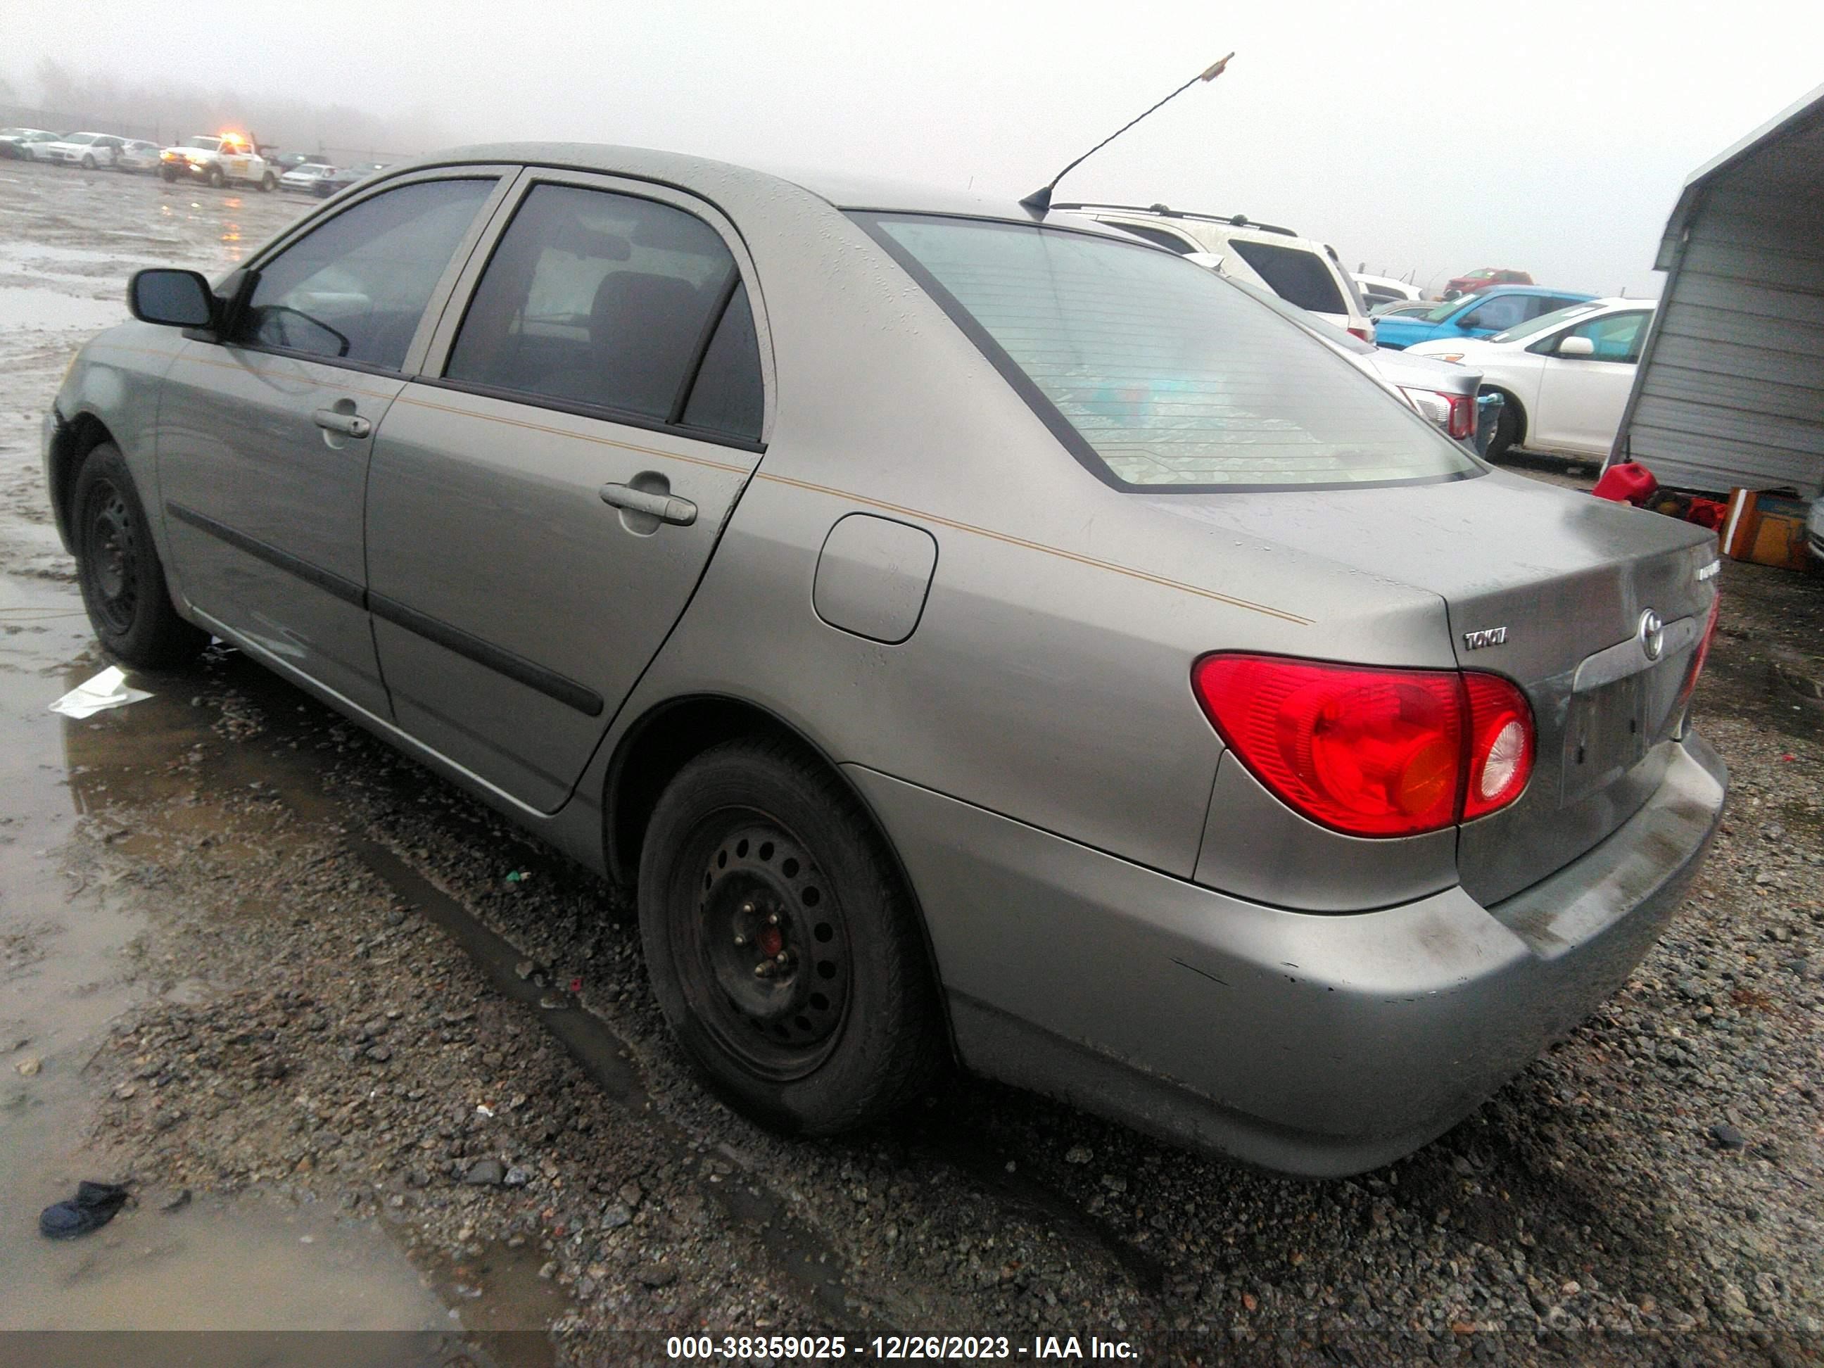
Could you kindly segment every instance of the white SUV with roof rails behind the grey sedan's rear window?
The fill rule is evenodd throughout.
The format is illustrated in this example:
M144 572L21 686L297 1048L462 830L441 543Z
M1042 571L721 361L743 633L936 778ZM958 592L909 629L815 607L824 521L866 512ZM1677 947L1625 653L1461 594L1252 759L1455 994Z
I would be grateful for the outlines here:
M1373 341L1373 321L1363 306L1355 281L1337 259L1337 250L1299 237L1291 228L1255 223L1240 213L1228 219L1215 213L1187 213L1166 204L1140 208L1060 202L1052 208L1169 246L1218 275L1259 285L1288 305L1310 310L1363 341Z

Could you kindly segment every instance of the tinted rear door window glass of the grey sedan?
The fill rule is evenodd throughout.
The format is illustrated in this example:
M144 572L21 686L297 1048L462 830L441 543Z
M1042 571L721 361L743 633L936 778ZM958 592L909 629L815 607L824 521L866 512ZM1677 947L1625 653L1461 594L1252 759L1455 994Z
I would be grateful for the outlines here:
M702 219L635 195L536 186L500 239L445 378L677 423L684 389L713 359L704 425L737 421L737 328L715 358L711 326L737 279ZM746 295L741 295L746 308ZM751 359L753 319L746 316ZM755 363L757 383L757 363ZM711 421L713 420L713 421Z

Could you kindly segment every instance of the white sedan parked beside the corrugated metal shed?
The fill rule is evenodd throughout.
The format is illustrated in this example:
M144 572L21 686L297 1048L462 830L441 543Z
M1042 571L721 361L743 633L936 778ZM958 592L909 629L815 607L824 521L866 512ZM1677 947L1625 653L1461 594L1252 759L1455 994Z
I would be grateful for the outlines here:
M1508 447L1607 456L1654 308L1653 299L1589 299L1494 337L1417 343L1406 354L1481 370L1483 390L1501 394L1490 456Z

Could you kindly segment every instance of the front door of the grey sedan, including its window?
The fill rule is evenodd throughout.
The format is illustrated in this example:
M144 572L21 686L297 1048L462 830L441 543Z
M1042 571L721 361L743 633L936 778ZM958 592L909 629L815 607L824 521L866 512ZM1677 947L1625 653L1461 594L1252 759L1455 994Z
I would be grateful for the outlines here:
M223 635L376 715L363 498L372 429L500 168L394 182L263 255L221 337L181 343L159 498L184 596Z

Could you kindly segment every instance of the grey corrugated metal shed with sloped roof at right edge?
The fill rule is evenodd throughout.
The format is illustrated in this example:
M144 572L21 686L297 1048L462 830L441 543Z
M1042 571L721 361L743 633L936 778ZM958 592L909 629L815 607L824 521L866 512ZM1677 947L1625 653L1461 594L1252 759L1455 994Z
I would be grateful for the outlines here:
M1824 86L1693 171L1609 460L1660 483L1824 494Z

